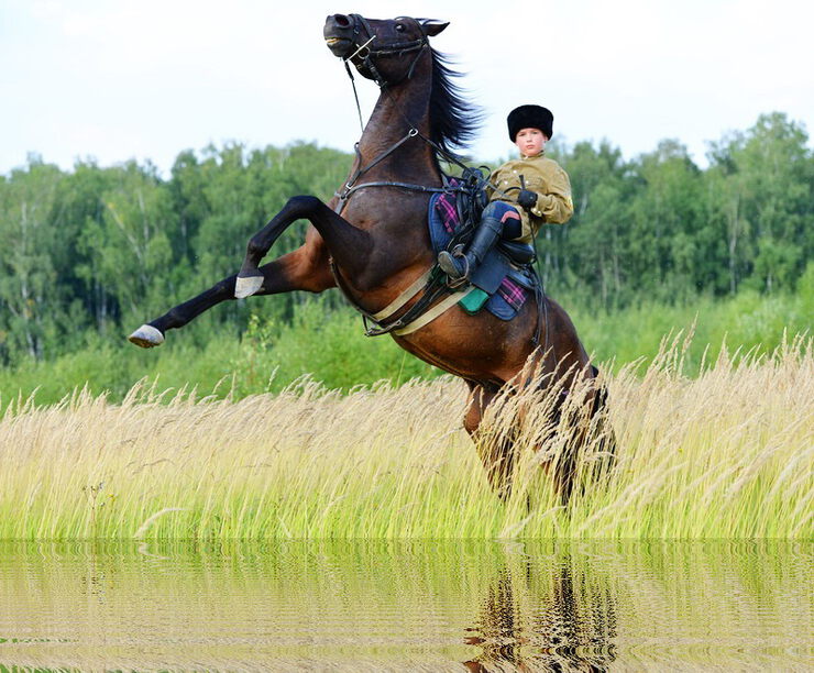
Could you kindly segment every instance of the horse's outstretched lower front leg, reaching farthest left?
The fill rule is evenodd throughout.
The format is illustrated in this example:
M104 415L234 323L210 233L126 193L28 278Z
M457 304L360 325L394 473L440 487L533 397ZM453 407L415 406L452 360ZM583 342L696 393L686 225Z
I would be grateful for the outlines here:
M305 245L260 269L262 289L258 294L275 295L292 290L321 293L336 282L328 264L328 251L317 231L309 229ZM161 345L167 330L183 328L221 301L234 299L237 275L223 278L197 297L179 304L161 318L141 326L130 341L144 349Z

